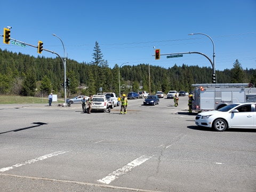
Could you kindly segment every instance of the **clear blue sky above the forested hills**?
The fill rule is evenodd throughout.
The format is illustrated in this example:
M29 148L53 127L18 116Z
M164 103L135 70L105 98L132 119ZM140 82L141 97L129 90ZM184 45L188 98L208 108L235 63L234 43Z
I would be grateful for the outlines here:
M256 0L9 0L1 15L1 35L11 26L11 38L35 46L42 41L43 49L64 57L61 39L66 58L80 63L93 61L98 42L110 68L142 63L212 68L206 57L188 52L203 53L212 62L215 53L216 70L231 69L236 60L243 69L256 68ZM160 49L159 60L153 56L154 47ZM0 49L57 57L3 41ZM167 58L171 53L186 54Z

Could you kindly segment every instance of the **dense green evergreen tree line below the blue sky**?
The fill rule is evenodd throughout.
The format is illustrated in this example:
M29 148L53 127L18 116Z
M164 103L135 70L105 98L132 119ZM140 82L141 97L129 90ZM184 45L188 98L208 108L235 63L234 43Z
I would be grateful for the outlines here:
M68 97L95 94L100 88L102 92L119 93L119 77L121 93L139 91L141 87L151 93L189 91L193 89L191 84L212 82L212 68L197 65L163 68L138 63L137 66L124 65L122 68L116 64L110 68L108 61L103 59L98 42L95 42L92 59L89 63L67 59ZM217 83L256 83L256 70L243 69L238 59L233 68L216 70L216 75ZM64 97L63 83L64 66L60 58L35 58L0 49L0 94L45 97L53 92Z

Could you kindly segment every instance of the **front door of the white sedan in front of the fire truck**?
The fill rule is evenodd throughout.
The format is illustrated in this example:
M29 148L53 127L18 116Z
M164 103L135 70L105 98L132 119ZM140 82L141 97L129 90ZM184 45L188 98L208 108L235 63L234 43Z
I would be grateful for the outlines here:
M243 108L246 108L245 111ZM239 112L233 113L230 119L230 127L234 128L253 128L255 111L251 104L242 105L236 108Z

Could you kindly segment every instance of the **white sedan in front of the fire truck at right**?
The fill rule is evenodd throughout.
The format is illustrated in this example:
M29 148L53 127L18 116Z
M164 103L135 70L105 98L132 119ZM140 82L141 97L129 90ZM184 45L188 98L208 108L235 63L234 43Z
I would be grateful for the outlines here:
M219 110L197 114L198 126L213 127L216 131L228 128L256 129L255 103L233 103Z

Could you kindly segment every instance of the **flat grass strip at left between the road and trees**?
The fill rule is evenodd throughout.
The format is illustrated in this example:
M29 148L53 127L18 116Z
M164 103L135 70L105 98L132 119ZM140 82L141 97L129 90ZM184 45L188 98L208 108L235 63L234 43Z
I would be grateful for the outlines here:
M58 102L64 102L64 99L58 99ZM48 103L47 98L23 97L19 95L0 95L0 104L27 104L27 103Z

